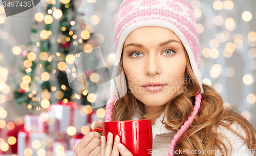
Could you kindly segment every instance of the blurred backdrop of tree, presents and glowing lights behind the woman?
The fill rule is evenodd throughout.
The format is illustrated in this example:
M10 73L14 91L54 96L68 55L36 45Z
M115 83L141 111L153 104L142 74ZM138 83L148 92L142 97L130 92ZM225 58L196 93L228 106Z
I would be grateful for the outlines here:
M203 83L256 128L256 1L188 1L197 19ZM0 155L75 155L95 121L104 121L109 93L70 88L66 63L98 46L105 65L114 63L121 2L42 0L8 17L0 2ZM97 57L88 56L85 65L97 66ZM97 84L97 76L88 69L80 82Z

